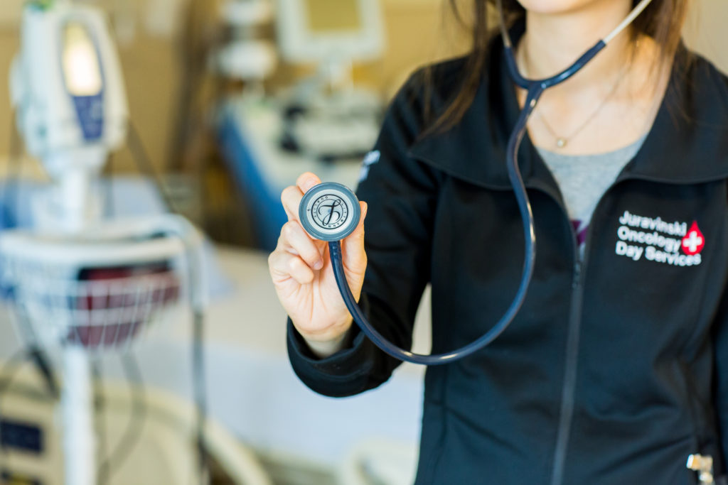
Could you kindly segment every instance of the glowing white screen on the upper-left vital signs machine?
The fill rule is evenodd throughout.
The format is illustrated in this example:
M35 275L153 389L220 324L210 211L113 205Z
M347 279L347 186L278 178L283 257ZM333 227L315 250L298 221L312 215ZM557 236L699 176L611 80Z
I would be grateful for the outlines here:
M103 89L96 48L78 23L68 23L63 32L63 76L72 96L94 96Z

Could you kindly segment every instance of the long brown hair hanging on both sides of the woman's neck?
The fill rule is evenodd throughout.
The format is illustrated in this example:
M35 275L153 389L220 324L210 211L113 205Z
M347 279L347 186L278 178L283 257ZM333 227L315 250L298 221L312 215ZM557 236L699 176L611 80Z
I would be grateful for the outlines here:
M639 0L632 0L633 6ZM487 65L488 44L496 29L491 26L491 15L488 4L494 5L495 0L469 0L470 15L464 20L459 0L448 0L455 19L460 25L470 29L472 47L467 54L464 76L459 91L446 105L446 108L437 116L433 116L430 108L432 95L432 71L424 72L426 99L424 103L424 116L429 124L423 135L433 132L446 132L454 127L467 112L475 99L478 87L483 78ZM688 0L653 0L644 12L636 18L631 32L635 38L639 35L652 37L662 47L662 58L672 58L680 44L682 26L687 15ZM507 23L513 23L525 17L524 9L518 0L503 0L503 12Z

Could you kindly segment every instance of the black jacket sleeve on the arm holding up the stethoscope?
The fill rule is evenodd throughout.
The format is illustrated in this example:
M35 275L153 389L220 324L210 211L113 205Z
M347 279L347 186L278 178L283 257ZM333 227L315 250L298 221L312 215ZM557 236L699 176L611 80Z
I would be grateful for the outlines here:
M368 203L365 250L368 265L360 307L381 334L411 348L414 317L430 281L432 225L438 173L408 156L421 129L413 81L395 97L374 150L362 167L357 196ZM331 357L315 358L288 321L293 370L312 390L351 396L389 379L400 364L376 348L356 324L348 345Z

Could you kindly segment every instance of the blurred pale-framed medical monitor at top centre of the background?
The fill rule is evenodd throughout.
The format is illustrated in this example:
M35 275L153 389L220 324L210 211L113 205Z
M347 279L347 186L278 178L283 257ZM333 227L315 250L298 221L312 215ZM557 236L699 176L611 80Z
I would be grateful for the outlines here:
M278 0L278 40L290 63L374 60L384 49L380 0Z

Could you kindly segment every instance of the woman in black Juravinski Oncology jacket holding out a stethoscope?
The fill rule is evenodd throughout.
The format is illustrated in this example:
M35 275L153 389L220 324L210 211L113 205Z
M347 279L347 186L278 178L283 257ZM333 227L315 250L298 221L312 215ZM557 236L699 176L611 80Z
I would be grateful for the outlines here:
M724 473L728 81L679 45L685 4L654 0L537 105L519 156L533 282L492 345L427 369L418 484L695 484L695 454ZM511 1L521 72L560 71L632 7ZM525 93L502 41L488 40L485 9L475 0L469 56L416 74L395 98L358 188L366 238L360 223L343 243L360 306L404 348L427 283L442 353L485 333L521 276L505 144ZM304 174L283 192L290 222L270 270L293 369L349 396L398 362L352 326L325 245L296 220L317 183Z

